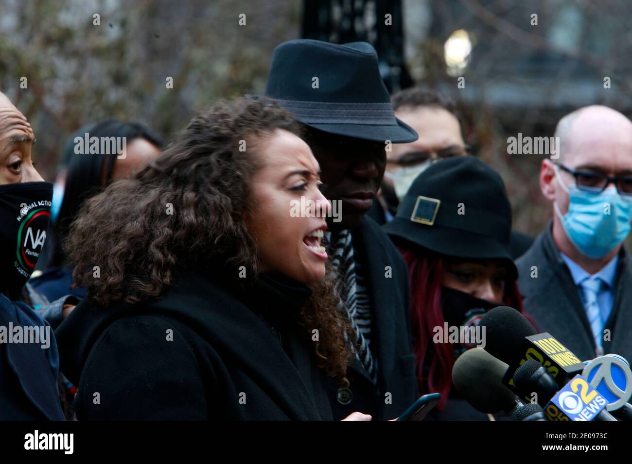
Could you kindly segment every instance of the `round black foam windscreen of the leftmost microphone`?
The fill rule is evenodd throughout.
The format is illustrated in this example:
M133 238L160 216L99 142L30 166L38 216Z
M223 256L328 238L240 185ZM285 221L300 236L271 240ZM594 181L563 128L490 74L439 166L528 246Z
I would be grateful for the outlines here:
M480 412L511 410L516 405L516 395L501 383L507 367L482 348L471 348L454 363L454 387Z

